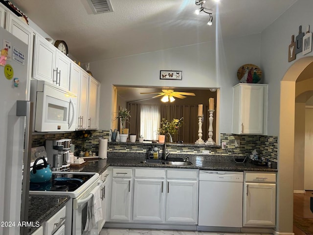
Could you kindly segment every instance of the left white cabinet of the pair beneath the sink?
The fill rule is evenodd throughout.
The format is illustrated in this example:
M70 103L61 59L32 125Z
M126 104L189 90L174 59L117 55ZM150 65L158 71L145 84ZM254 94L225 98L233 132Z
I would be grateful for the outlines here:
M133 220L164 222L165 170L135 169Z

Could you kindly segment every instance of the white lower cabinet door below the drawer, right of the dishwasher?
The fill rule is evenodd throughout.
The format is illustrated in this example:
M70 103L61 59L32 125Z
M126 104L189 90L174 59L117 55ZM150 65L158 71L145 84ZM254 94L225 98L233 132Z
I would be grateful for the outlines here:
M245 183L244 226L274 227L276 184Z

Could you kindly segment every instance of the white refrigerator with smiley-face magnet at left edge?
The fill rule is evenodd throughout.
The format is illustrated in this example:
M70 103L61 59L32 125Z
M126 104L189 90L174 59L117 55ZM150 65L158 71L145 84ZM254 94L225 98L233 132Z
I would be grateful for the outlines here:
M0 27L0 50L3 52L5 48L8 55L5 65L0 65L0 222L4 226L0 226L0 234L18 235L24 229L19 222L27 220L28 211L29 173L22 176L23 161L29 165L31 144L31 105L26 101L30 84L27 77L28 47ZM2 64L3 59L2 55Z

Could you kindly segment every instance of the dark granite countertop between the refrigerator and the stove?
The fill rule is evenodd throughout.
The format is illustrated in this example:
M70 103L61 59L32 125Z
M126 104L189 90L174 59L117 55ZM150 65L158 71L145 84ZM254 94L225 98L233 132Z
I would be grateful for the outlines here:
M27 234L30 235L52 215L63 208L69 196L30 195L28 208L28 222L33 222L34 227L29 227Z

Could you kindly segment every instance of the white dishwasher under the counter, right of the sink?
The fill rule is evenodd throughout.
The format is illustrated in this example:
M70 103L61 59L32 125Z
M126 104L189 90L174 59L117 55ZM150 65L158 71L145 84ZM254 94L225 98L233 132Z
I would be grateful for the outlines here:
M243 172L199 171L198 231L240 232Z

